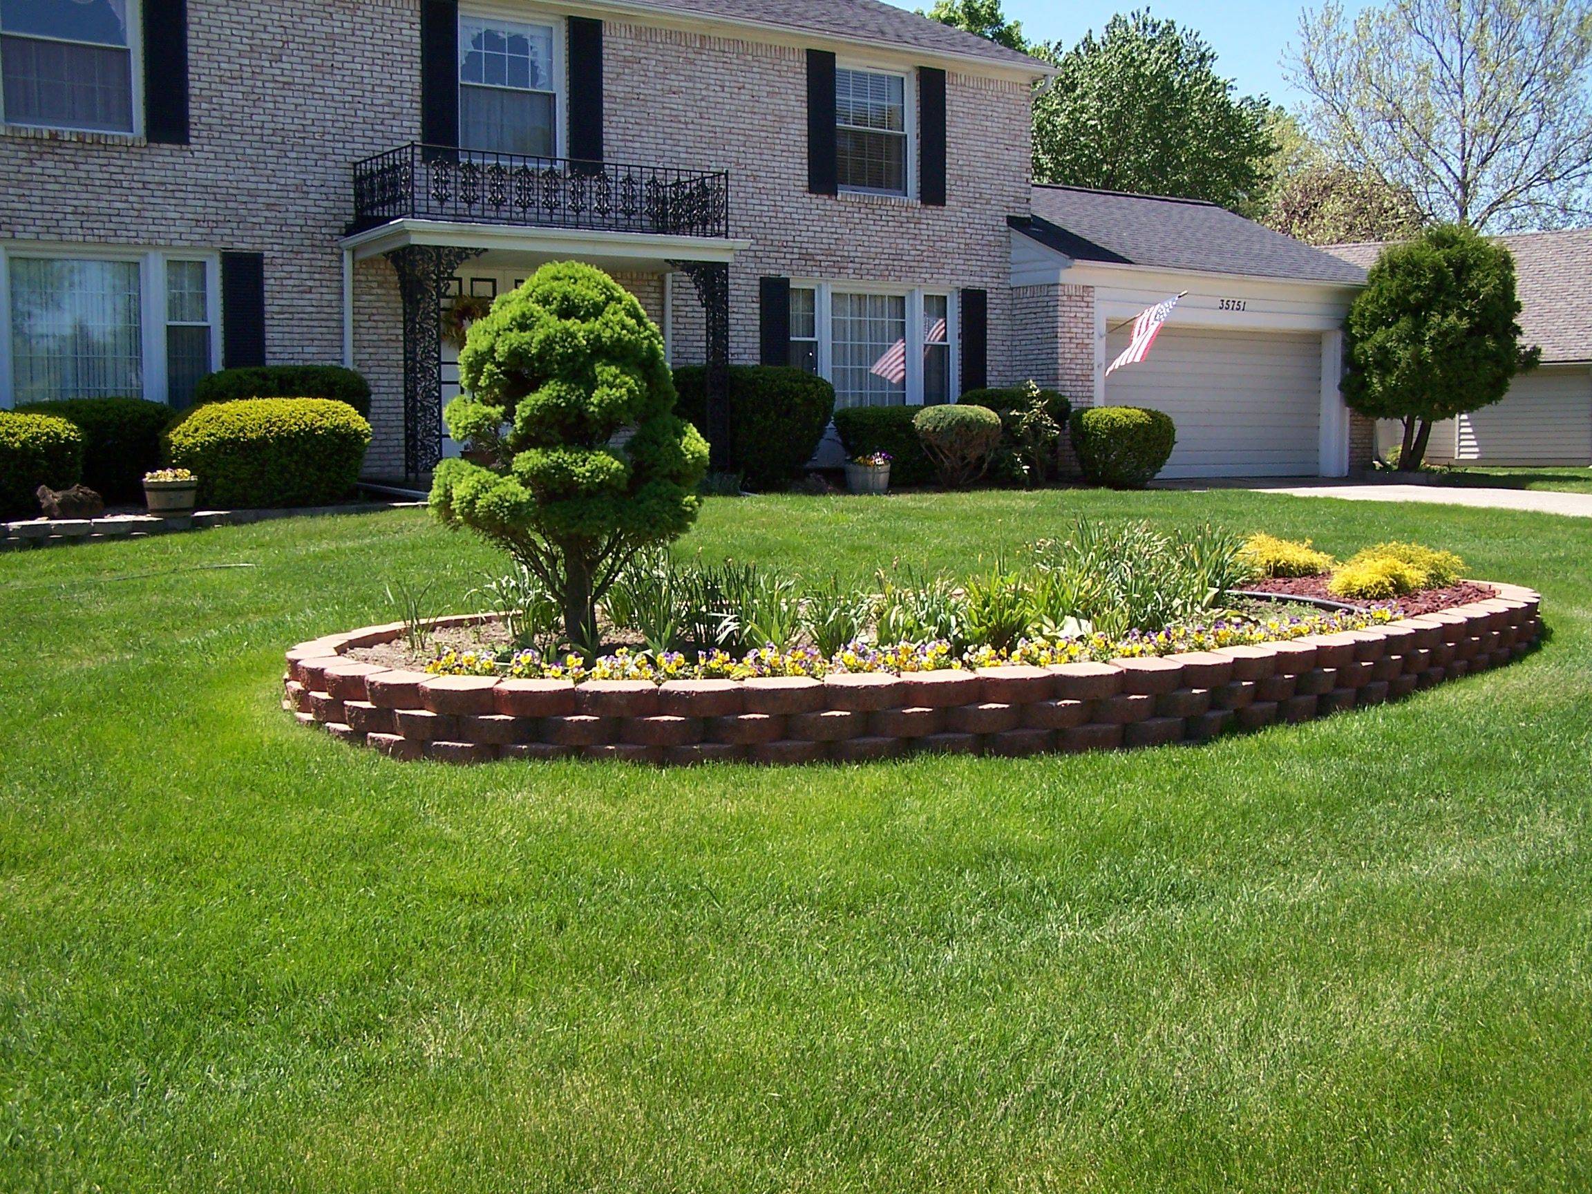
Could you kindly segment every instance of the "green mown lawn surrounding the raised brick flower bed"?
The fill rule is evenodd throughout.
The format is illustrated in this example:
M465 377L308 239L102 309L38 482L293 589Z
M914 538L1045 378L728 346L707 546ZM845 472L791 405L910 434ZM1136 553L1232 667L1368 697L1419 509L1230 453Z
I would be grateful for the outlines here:
M686 541L963 567L1076 513L1539 587L1530 659L1205 748L396 764L282 650L444 605L420 513L0 556L0 1189L1592 1188L1592 552L1248 492L755 498Z

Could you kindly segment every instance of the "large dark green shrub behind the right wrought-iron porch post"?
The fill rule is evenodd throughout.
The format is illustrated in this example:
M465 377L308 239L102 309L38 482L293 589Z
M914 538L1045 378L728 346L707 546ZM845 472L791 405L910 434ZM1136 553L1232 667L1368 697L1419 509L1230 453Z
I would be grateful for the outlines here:
M675 369L675 414L707 436L707 368ZM799 478L834 414L834 387L786 365L729 369L729 470L748 489L783 489Z

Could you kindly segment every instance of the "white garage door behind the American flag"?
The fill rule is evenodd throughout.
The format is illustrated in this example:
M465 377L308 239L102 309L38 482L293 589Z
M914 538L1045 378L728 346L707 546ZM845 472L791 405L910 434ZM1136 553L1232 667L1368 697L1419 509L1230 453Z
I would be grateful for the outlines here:
M1118 331L1106 360L1127 345ZM1108 406L1149 406L1178 425L1162 476L1320 473L1321 338L1164 328L1143 365L1105 379Z

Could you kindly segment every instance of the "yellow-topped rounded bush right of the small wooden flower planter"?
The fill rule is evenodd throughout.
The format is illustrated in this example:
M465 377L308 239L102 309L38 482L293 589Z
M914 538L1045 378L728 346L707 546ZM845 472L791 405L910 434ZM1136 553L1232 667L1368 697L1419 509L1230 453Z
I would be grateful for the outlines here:
M371 425L326 398L197 406L166 433L166 458L199 476L199 501L242 509L339 501L369 446Z

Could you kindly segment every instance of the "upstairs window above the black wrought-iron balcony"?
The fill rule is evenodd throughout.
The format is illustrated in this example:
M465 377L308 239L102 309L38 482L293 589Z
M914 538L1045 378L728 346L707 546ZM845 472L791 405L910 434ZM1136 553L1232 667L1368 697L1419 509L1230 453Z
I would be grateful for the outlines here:
M462 18L458 35L462 148L556 156L552 27Z

